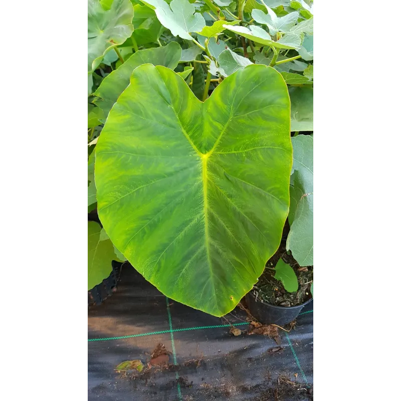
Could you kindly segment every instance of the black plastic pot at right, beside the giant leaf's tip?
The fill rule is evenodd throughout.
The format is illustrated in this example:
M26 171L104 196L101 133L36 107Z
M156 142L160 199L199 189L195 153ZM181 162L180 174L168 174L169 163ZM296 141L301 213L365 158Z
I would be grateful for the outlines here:
M263 324L284 324L292 322L301 312L302 308L312 301L313 298L308 299L301 305L297 306L276 306L271 305L260 299L256 300L255 295L249 292L245 299L247 301L248 309L260 323Z

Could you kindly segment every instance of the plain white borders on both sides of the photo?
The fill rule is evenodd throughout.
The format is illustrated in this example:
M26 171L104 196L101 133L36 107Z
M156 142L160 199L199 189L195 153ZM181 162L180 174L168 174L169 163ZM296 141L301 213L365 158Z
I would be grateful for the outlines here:
M84 398L84 8L2 5L2 358L15 399ZM399 3L320 1L317 395L395 399Z

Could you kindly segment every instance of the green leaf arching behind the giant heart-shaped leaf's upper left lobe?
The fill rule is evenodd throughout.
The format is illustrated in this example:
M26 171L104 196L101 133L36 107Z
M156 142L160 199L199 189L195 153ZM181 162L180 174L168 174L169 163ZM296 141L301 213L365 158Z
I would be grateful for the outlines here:
M129 77L132 71L141 64L151 63L153 65L163 65L174 69L181 57L181 48L176 42L171 42L167 46L139 50L134 53L124 64L112 71L100 84L95 92L99 99L94 103L99 106L104 115L107 116L118 96L129 84Z

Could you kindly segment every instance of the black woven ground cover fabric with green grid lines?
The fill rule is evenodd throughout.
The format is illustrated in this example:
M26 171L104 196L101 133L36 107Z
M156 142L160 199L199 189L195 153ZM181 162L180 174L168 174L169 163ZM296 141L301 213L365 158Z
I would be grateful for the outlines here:
M281 348L263 335L249 335L244 311L230 324L172 301L131 266L121 271L117 291L86 312L87 399L160 401L293 401L312 399L314 304L295 329L279 330ZM154 348L171 352L167 366L149 368ZM142 372L118 373L125 360L140 359ZM292 382L292 383L291 383Z

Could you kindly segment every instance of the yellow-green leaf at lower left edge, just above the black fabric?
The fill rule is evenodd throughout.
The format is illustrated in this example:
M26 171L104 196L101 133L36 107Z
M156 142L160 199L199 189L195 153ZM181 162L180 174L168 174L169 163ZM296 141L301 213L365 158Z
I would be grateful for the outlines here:
M109 239L101 240L102 228L98 223L86 222L87 229L87 289L106 279L112 269L111 261L115 259L113 244Z

